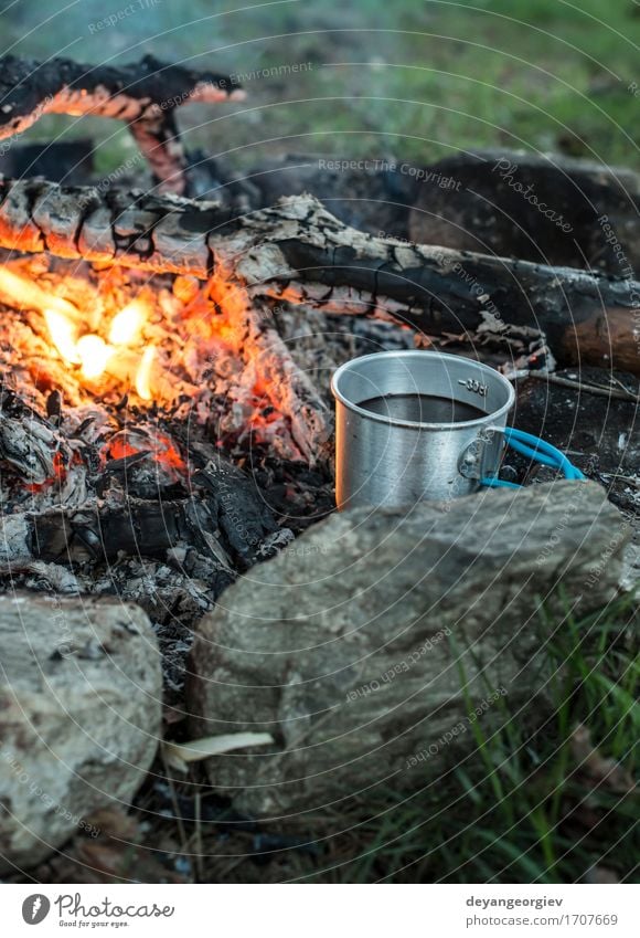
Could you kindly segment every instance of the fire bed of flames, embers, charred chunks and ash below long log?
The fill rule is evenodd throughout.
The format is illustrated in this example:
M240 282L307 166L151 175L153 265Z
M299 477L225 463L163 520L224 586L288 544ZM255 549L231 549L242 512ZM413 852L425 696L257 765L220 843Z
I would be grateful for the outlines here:
M264 330L194 277L49 255L8 259L0 304L1 570L135 599L167 629L178 689L171 650L318 509Z

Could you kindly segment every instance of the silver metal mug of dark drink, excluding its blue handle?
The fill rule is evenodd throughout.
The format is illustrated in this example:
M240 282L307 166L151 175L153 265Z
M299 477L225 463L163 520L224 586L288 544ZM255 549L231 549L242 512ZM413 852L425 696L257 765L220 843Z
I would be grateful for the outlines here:
M383 351L333 375L335 500L404 506L469 495L498 472L514 391L495 369L437 351Z

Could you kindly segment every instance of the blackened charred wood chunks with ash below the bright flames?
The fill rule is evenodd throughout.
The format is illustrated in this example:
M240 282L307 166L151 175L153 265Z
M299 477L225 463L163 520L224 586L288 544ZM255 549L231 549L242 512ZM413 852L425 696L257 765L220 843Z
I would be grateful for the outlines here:
M287 541L253 481L211 444L190 464L152 423L92 445L52 428L10 391L0 397L0 483L34 497L0 519L0 571L34 561L104 563L121 552L195 548L224 584ZM25 499L15 503L24 506ZM33 507L32 507L33 506ZM282 540L284 538L284 540Z

